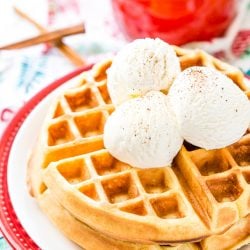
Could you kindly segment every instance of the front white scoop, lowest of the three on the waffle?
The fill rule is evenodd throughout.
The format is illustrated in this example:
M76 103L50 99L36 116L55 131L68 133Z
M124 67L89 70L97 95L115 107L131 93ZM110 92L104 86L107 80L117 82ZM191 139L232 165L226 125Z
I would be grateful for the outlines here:
M183 138L166 99L151 91L117 107L104 128L104 145L111 155L138 168L171 164Z

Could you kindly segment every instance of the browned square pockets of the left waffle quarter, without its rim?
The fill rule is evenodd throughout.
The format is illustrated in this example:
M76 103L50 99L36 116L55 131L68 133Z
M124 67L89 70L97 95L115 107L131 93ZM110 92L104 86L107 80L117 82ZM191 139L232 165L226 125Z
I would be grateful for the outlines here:
M101 135L113 109L110 102L105 80L68 90L60 98L48 127L48 146Z

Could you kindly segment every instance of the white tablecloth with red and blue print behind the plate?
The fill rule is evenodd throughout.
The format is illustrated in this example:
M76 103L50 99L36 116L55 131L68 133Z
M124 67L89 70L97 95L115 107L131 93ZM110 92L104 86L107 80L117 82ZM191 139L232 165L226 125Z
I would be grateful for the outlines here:
M250 1L238 2L240 15L225 37L209 44L192 43L188 46L213 52L250 77ZM87 33L68 37L64 41L87 63L110 57L126 43L115 25L110 0L0 0L0 46L38 34L31 24L14 13L13 5L51 30L84 21ZM1 51L0 136L17 110L31 96L75 68L57 49L46 45ZM0 250L5 249L10 247L0 235Z

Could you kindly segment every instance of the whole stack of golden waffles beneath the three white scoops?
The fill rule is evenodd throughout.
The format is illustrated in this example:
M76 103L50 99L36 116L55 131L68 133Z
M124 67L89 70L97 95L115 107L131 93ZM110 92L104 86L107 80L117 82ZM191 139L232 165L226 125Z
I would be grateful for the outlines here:
M175 47L181 68L208 66L246 95L242 73L200 50ZM238 249L250 243L250 131L204 150L184 143L171 167L137 169L112 157L103 128L114 110L95 65L51 105L28 166L44 213L85 249Z

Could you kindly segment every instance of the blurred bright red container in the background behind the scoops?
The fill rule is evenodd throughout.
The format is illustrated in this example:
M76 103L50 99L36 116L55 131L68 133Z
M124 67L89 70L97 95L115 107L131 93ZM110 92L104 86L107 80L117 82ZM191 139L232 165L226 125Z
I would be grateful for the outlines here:
M223 35L236 15L236 0L112 0L130 39L159 37L170 44Z

